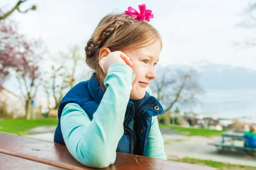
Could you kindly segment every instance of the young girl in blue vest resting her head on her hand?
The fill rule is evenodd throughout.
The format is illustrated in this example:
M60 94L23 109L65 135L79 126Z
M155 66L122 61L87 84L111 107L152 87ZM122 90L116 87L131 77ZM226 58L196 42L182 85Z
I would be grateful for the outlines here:
M162 40L145 21L151 11L139 7L140 13L129 7L102 18L85 47L95 72L70 89L58 108L54 141L89 167L108 167L116 152L166 159L157 122L163 108L148 88Z

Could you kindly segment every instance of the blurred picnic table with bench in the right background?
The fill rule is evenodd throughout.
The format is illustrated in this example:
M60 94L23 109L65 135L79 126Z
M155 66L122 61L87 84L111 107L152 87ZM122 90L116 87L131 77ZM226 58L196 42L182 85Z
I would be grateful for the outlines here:
M224 150L224 149L243 150L246 153L249 153L252 155L254 155L254 153L256 152L256 148L235 145L236 140L245 141L244 133L227 131L222 133L221 136L222 136L221 141L209 142L208 144L217 147L218 150Z

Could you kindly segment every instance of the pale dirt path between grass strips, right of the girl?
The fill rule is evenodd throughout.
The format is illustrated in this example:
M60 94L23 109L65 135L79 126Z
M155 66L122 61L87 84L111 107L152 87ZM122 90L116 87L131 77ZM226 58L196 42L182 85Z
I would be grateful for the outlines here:
M248 156L242 151L218 152L214 146L207 145L208 142L221 140L221 137L187 137L177 133L168 133L163 129L161 129L161 132L165 141L166 155L169 158L173 156L178 158L189 157L256 167L256 157ZM243 145L242 142L236 142L236 144Z

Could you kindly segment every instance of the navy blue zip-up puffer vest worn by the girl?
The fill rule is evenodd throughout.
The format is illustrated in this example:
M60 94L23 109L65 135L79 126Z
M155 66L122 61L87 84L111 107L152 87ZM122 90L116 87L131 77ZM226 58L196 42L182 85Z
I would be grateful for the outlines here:
M105 93L105 89L99 86L98 81L93 75L90 80L83 81L74 86L67 95L61 100L58 108L58 126L55 130L54 141L65 144L61 133L61 114L65 105L68 103L79 104L87 113L89 118L93 119L93 113L99 107L100 101ZM143 101L143 102L142 102ZM152 116L163 113L163 107L156 98L147 92L143 99L138 100L139 105L134 108L134 103L129 101L125 112L123 122L124 134L119 140L116 152L130 153L144 156L147 145L148 134L151 128ZM134 119L134 130L129 126ZM134 135L136 135L136 144L134 143ZM135 147L135 148L134 148Z

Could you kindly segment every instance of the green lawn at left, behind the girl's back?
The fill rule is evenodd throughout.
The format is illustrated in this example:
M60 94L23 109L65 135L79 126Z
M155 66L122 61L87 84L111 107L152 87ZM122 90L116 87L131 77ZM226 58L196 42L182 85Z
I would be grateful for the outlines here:
M0 119L0 131L15 134L26 134L29 129L37 126L58 125L58 118L43 118L35 120L26 119Z

